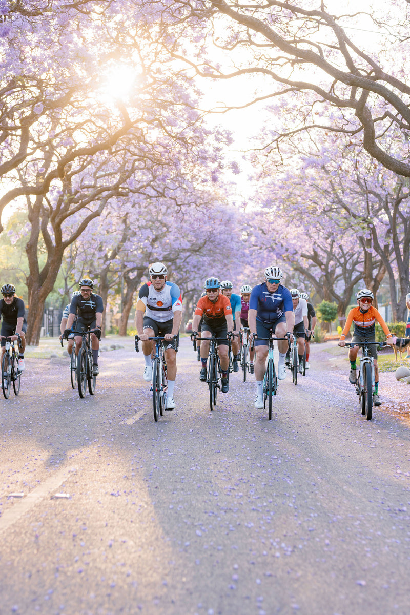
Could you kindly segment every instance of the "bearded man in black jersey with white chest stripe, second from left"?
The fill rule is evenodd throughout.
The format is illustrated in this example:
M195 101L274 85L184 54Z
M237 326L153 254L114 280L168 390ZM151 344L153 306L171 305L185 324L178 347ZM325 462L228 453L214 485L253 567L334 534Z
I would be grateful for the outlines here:
M78 355L82 343L82 329L97 328L97 332L91 334L91 347L94 360L93 376L98 376L100 372L98 369L98 348L100 347L101 323L103 322L103 299L100 295L92 292L94 283L88 277L80 280L79 287L81 295L74 296L71 300L64 336L68 339L69 334L72 333L71 327L77 315L74 333L78 333L78 335L74 335L74 340L76 341L76 355Z

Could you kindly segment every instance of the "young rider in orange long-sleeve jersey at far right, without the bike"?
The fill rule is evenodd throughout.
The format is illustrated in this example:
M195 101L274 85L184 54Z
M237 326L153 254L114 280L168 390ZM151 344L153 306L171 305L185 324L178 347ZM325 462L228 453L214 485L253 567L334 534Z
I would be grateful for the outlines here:
M374 300L374 295L368 288L364 288L357 293L357 308L352 308L347 314L346 324L344 326L344 330L341 333L341 338L339 339L339 346L344 347L345 338L347 333L349 333L350 325L352 323L355 325L352 337L352 343L361 342L363 343L365 339L369 342L376 341L376 320L379 323L380 327L382 327L384 333L387 337L387 344L389 346L393 346L393 336L390 333L384 319L380 315L380 312L377 311L376 308L372 307L372 302ZM356 358L359 350L359 346L355 346L354 348L350 348L349 350L349 360L350 360L350 375L349 382L352 384L356 384L357 375L356 375ZM373 393L373 403L375 406L380 406L382 402L380 402L379 397L379 370L377 370L377 349L374 344L369 346L369 354L374 358L374 393Z

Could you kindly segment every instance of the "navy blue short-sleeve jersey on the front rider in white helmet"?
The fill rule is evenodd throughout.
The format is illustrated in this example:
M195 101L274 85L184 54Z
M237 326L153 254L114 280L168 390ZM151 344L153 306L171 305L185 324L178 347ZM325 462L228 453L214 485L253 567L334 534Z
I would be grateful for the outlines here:
M273 323L285 312L293 312L290 290L280 284L275 292L267 290L266 282L252 288L249 309L256 309L256 320Z

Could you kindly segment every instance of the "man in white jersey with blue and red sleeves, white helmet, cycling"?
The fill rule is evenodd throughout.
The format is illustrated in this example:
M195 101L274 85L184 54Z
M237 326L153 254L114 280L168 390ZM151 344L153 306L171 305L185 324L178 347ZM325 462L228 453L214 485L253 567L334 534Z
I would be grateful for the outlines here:
M165 347L167 362L168 390L167 410L175 408L173 392L176 378L176 348L178 347L179 327L182 320L182 299L179 287L167 281L168 269L164 263L149 266L150 281L143 284L138 293L135 311L135 325L143 343L145 360L144 380L151 381L152 341L148 338L164 336L169 343ZM173 337L178 336L176 344Z

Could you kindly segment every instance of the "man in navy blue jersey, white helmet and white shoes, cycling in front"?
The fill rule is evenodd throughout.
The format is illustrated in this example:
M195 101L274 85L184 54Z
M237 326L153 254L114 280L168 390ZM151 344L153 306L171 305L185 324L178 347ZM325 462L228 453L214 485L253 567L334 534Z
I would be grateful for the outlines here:
M254 338L256 359L254 372L256 379L256 408L263 408L263 380L266 371L267 344L258 341L269 338L272 334L277 338L293 338L294 327L293 303L288 288L280 284L283 273L279 267L270 266L265 269L264 282L254 286L249 300L248 323L251 330L250 339ZM286 378L285 357L288 343L278 341L279 361L278 378Z

